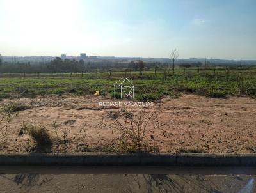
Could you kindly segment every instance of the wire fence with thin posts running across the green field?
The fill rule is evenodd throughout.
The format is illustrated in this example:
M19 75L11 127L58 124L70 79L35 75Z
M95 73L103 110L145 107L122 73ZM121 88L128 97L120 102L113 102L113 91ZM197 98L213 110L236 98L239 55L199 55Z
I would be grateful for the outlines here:
M115 79L118 77L133 78L159 78L173 75L183 76L228 76L228 75L256 75L256 67L219 67L219 68L153 68L143 71L134 70L90 70L81 72L55 73L55 72L37 72L37 73L0 73L0 78L11 77L33 77L33 78L84 78L84 79Z

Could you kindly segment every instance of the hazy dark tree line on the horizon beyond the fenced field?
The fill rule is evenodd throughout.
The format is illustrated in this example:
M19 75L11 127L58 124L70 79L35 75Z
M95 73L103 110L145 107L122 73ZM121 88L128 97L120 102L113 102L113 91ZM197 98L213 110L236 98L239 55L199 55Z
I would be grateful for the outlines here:
M149 70L154 68L172 68L174 69L174 60L172 63L160 63L160 62L148 62L144 61L84 61L75 59L61 59L56 58L48 63L10 63L3 62L0 59L0 73L76 73L76 72L109 72L116 70L132 70L143 72L143 70ZM191 68L200 66L210 66L210 63L203 64L202 62L194 63L179 63L181 68ZM218 65L220 66L220 65Z

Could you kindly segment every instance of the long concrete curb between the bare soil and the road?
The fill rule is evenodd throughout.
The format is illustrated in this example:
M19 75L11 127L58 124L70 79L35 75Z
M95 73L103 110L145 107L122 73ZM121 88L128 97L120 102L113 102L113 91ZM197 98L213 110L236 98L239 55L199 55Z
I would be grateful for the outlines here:
M0 165L40 166L256 166L256 154L0 153Z

